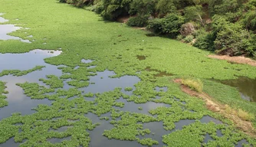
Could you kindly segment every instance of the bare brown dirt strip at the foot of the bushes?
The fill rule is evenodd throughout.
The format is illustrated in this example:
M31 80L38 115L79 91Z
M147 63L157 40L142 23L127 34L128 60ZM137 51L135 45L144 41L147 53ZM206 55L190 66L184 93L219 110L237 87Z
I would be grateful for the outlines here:
M220 59L220 60L228 60L231 63L236 63L236 64L249 64L251 66L256 67L256 60L252 60L248 57L230 57L227 55L217 55L217 54L210 54L208 57L212 57L215 59Z

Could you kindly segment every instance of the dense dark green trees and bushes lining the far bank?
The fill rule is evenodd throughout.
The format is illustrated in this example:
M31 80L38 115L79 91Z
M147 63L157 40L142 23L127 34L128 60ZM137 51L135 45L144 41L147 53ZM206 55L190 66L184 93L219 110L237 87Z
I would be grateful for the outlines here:
M208 51L256 57L256 0L60 0Z

